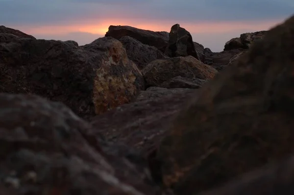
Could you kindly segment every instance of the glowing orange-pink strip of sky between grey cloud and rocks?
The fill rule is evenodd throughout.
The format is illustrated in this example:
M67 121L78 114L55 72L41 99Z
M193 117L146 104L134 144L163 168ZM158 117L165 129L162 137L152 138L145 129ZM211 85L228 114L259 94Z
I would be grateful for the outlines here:
M213 52L221 52L223 51L224 44L229 41L232 38L235 37L240 37L241 34L243 33L248 33L248 32L256 32L256 31L262 31L262 30L269 30L271 27L274 27L275 25L283 22L285 19L281 20L274 20L274 21L241 21L240 24L238 22L211 22L211 23L199 23L199 26L206 26L207 29L211 29L214 27L228 27L230 26L230 29L223 29L222 32L218 32L217 35L213 31L207 32L204 29L197 28L197 24L189 24L189 23L184 23L180 24L181 27L185 28L188 30L193 38L193 41L199 44L202 44L204 48L208 47L210 48ZM115 22L114 22L115 23ZM176 24L177 22L174 22ZM2 24L1 24L2 25ZM170 32L170 28L167 30L167 26L164 26L162 29L160 28L159 25L155 25L154 27L147 25L147 27L144 27L142 24L141 25L128 25L128 24L109 24L110 25L121 25L121 26L132 26L135 28L143 29L143 30L151 30L151 31L165 31L165 32ZM90 26L85 26L84 28L77 28L76 31L73 28L69 28L67 30L64 26L9 26L9 25L4 25L9 28L14 28L17 30L20 30L26 34L34 36L36 39L45 39L45 40L60 40L60 41L75 41L78 43L79 46L89 44L93 41L95 41L98 38L104 37L106 32L108 31L108 27L105 28L104 26L99 29L99 27L95 27L95 25L90 25ZM240 27L239 27L240 26ZM193 28L194 27L194 28ZM46 33L48 32L48 28L54 29L53 32L56 34L52 33ZM88 28L88 29L87 29ZM92 30L91 30L92 29ZM189 29L192 29L189 30ZM104 33L103 30L105 31ZM63 32L62 32L63 31ZM198 31L198 32L197 32ZM94 32L94 33L92 33ZM97 33L100 32L100 33ZM76 37L76 38L75 38ZM75 38L75 39L74 39Z

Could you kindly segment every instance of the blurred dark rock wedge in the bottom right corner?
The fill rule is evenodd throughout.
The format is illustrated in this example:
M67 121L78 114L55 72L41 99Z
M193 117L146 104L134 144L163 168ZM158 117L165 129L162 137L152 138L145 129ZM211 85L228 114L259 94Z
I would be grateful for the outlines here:
M246 173L223 187L199 195L293 195L294 157Z

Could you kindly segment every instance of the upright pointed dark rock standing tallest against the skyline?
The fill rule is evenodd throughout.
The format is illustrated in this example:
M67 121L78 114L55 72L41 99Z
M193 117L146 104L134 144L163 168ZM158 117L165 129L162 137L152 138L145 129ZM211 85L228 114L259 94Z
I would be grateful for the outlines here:
M170 57L186 57L193 56L197 60L203 61L195 49L195 45L191 34L180 27L180 24L174 24L171 28L169 46L167 48L168 56Z

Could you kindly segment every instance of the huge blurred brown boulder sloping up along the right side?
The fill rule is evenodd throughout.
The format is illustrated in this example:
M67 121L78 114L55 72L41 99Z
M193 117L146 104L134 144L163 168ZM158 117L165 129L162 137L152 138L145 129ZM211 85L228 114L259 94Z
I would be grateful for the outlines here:
M294 152L293 48L294 16L198 89L158 150L166 187L196 194Z

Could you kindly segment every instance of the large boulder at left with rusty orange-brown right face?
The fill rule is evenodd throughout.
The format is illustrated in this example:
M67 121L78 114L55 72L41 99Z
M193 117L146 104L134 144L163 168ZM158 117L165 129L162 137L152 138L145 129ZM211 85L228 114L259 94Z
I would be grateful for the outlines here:
M74 43L0 37L0 92L33 93L60 101L89 119L130 102L144 78L111 37Z

